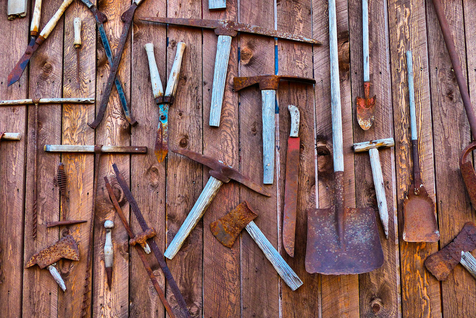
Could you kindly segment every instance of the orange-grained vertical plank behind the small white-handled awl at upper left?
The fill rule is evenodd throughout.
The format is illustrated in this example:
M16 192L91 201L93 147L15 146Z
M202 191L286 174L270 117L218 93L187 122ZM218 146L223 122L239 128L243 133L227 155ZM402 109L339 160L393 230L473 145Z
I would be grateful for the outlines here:
M73 45L73 20L82 21L79 51L79 82L77 81L77 56ZM96 22L89 10L81 2L73 2L65 12L63 97L95 98L96 93ZM87 123L94 120L94 105L64 104L62 112L62 144L94 144L94 131ZM60 198L60 219L88 220L88 223L67 226L71 235L80 243L79 262L64 260L61 273L66 292L59 294L58 316L77 317L81 311L84 277L88 249L84 243L89 239L89 225L92 208L92 188L94 175L94 157L91 154L61 154L61 162L67 174L69 202L60 198L55 187L55 200ZM62 231L63 228L60 228ZM68 273L69 268L69 273Z

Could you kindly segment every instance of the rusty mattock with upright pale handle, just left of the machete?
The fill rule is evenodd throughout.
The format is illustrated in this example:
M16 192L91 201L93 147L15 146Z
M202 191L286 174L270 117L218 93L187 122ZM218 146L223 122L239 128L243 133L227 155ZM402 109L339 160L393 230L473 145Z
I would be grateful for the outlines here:
M233 86L235 92L250 85L258 84L261 91L263 117L263 183L273 184L274 180L274 130L275 130L275 101L279 81L297 81L315 84L316 80L300 76L258 75L251 77L235 77Z

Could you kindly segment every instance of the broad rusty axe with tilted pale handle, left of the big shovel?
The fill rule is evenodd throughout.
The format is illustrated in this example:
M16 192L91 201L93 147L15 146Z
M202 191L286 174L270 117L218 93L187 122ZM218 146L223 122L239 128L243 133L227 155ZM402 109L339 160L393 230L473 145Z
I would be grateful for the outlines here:
M227 215L211 223L210 230L221 244L231 248L243 228L246 228L266 258L273 264L279 276L281 276L292 290L296 290L297 287L303 284L302 280L292 268L289 267L288 263L279 255L276 248L269 243L263 232L261 232L259 227L253 222L253 219L257 216L248 202L243 201Z

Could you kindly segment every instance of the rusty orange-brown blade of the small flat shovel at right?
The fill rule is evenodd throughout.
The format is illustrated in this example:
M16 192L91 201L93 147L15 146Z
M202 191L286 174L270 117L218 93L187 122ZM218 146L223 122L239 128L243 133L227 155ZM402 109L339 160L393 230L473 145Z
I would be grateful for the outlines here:
M404 228L403 240L407 242L437 242L440 232L436 224L435 203L420 186L420 194L415 195L415 184L412 183L407 198L403 201ZM461 251L460 251L461 252Z

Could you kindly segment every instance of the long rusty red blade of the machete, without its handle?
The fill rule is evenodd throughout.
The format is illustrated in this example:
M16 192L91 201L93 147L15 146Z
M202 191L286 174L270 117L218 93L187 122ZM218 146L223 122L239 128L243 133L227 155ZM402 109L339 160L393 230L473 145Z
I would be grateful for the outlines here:
M289 137L286 155L286 185L284 187L283 245L289 256L294 257L297 209L297 176L299 174L298 137Z

